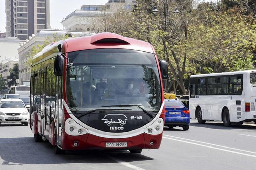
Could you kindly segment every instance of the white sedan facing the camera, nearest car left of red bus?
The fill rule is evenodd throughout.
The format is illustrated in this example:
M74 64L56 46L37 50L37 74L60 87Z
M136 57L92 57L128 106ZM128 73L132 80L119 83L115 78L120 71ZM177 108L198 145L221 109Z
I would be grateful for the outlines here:
M2 122L20 122L28 126L28 110L20 99L2 99L0 101L0 125Z

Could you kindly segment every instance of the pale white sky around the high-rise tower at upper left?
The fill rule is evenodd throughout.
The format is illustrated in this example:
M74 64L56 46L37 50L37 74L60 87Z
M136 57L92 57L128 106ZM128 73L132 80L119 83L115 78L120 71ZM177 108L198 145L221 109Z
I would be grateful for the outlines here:
M202 0L201 0L202 1ZM217 0L205 0L217 1ZM50 25L52 29L62 29L62 19L82 5L105 5L108 0L50 0ZM0 32L6 32L5 0L0 0Z

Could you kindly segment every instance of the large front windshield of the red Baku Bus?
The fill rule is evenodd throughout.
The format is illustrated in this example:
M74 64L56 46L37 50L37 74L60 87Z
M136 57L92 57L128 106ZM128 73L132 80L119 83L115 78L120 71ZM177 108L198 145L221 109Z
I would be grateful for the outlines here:
M161 86L153 53L93 49L68 53L67 100L71 111L111 105L139 105L158 113ZM129 110L138 110L130 107Z

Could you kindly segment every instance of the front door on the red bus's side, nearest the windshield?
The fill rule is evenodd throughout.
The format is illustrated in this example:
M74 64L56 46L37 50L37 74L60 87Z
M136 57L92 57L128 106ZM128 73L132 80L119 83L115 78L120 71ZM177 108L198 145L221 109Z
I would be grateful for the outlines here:
M56 96L55 96L55 119L56 119L56 143L61 145L61 132L63 129L63 107L62 107L62 78L61 76L56 76Z

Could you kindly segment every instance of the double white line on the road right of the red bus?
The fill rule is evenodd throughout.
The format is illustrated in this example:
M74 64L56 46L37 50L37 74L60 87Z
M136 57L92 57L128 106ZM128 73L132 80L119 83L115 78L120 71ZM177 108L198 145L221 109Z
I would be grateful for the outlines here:
M169 135L164 135L164 136L169 136ZM169 137L180 138L180 137L175 137L175 136L169 136ZM238 151L243 151L243 152L249 152L249 153L253 153L253 154L256 154L256 152L251 152L251 151L246 151L246 150L241 150L241 149L236 149L236 148L230 148L230 147L226 147L226 146L221 146L221 145L216 145L216 144L206 143L206 142L201 142L201 141L196 141L196 140L190 140L190 139L185 139L185 138L180 138L180 139L190 140L190 141L194 141L194 142L198 142L198 143L188 142L188 141L179 140L179 139L172 139L172 138L168 138L168 137L163 137L163 138L256 158L256 155L250 155L250 154L245 154L245 153L241 153L241 152L230 151L230 150L227 150L227 149L216 148L216 147L213 147L213 146L207 146L207 145L203 145L203 144L199 144L199 143L205 143L205 144L209 144L209 145L219 146L219 147L238 150Z

